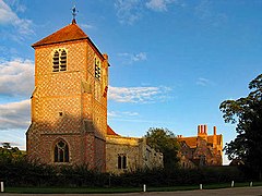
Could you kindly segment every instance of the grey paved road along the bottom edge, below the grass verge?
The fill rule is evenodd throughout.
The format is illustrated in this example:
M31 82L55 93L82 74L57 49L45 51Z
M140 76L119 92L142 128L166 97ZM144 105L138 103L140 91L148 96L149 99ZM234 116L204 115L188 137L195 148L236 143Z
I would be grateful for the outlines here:
M81 196L84 194L7 194L0 193L0 196ZM262 186L255 187L234 187L234 188L221 188L221 189L195 189L183 192L152 192L152 193L129 193L129 194L85 194L88 196L207 196L207 195L236 195L236 196L262 196Z

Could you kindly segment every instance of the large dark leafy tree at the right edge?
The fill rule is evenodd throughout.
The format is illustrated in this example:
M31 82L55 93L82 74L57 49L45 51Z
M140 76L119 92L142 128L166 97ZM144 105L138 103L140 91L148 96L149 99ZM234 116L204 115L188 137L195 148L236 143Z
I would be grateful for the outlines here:
M248 171L262 177L262 74L250 82L247 97L225 100L221 111L226 123L237 123L237 137L226 144L229 160L238 159Z

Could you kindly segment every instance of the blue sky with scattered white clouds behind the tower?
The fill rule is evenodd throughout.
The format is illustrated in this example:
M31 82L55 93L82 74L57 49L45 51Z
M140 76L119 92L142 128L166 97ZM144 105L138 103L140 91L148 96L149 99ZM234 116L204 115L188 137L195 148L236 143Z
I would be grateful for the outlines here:
M25 149L34 42L76 22L109 56L108 124L236 136L219 105L249 94L262 71L261 0L0 0L0 143ZM228 160L224 158L224 163Z

